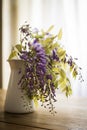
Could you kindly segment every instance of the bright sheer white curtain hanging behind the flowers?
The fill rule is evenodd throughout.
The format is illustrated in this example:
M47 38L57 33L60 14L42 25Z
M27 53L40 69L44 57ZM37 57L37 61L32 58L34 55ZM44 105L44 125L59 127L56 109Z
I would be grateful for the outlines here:
M18 28L28 21L32 27L47 29L50 25L54 25L54 32L62 27L63 38L62 44L68 53L73 57L77 57L78 64L83 68L83 76L87 77L87 1L86 0L3 0L3 39L6 37L5 30L9 27L9 39L3 40L3 86L7 87L8 79L6 66L8 48L18 42ZM7 5L7 6L6 6ZM9 6L9 9L5 8ZM15 13L16 12L16 13ZM5 15L10 18L5 18ZM14 15L15 14L15 15ZM14 15L14 16L12 16ZM12 45L11 44L11 45ZM10 71L8 72L10 73ZM73 95L86 96L86 83L73 82Z

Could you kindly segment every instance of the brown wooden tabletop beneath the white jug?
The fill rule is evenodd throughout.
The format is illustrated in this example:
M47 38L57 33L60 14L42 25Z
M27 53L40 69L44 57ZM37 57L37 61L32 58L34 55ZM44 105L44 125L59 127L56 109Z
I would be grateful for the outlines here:
M0 90L0 130L87 130L87 98L58 95L57 114L39 107L30 114L4 112L6 91Z

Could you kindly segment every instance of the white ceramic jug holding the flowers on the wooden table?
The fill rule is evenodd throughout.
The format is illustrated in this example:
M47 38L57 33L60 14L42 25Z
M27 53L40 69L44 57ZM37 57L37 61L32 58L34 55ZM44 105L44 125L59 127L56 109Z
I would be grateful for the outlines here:
M22 60L9 60L11 75L5 101L5 111L11 113L29 113L34 111L34 103L29 100L20 89L18 82L24 73ZM21 73L19 74L19 71Z

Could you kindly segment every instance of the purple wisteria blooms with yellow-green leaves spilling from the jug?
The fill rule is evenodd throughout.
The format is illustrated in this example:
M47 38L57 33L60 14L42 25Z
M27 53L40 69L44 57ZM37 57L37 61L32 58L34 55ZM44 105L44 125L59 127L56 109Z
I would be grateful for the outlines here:
M12 48L9 59L16 57L25 61L25 73L18 85L29 99L33 99L36 104L40 101L54 114L56 90L60 89L66 96L72 94L67 70L76 78L80 68L75 63L77 59L68 56L60 44L62 30L54 35L51 33L52 28L44 31L32 29L29 24L23 25L19 29L20 44Z

